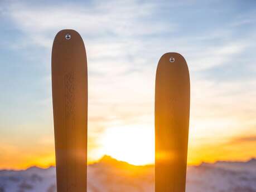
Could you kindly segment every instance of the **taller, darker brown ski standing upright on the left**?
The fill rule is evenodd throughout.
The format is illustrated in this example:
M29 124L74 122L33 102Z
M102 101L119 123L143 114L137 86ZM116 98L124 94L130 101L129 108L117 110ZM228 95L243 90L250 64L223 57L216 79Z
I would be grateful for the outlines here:
M78 32L57 33L51 67L57 192L86 192L88 77Z

